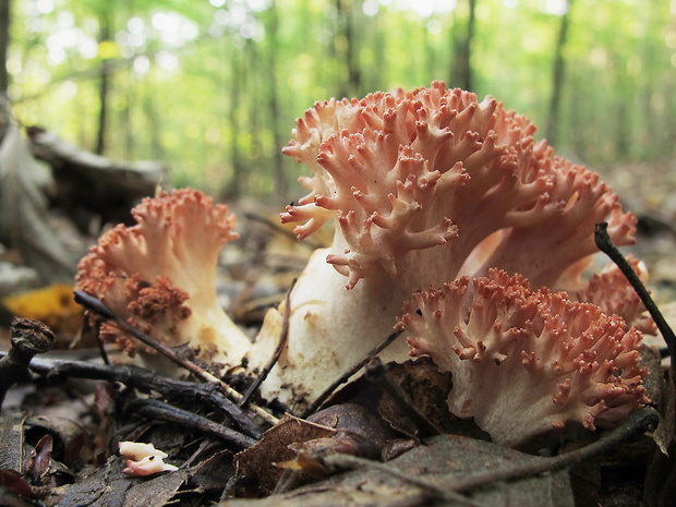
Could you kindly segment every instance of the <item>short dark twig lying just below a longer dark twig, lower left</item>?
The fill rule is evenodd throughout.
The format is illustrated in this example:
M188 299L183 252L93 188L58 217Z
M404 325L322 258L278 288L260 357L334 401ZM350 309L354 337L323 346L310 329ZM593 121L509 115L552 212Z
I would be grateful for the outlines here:
M179 409L164 401L155 399L134 400L129 403L128 411L144 417L164 419L165 421L178 423L183 427L192 427L203 433L217 436L242 449L257 444L257 440L224 426L222 424L218 424L204 415Z

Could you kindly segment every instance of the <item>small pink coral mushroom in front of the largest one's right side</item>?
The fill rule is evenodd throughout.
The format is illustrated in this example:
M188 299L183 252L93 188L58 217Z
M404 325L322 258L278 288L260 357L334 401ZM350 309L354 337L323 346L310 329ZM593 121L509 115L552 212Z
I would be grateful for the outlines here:
M575 423L594 430L649 401L641 333L594 304L495 269L413 300L398 324L411 354L451 372L449 410L473 418L493 442L516 446Z

